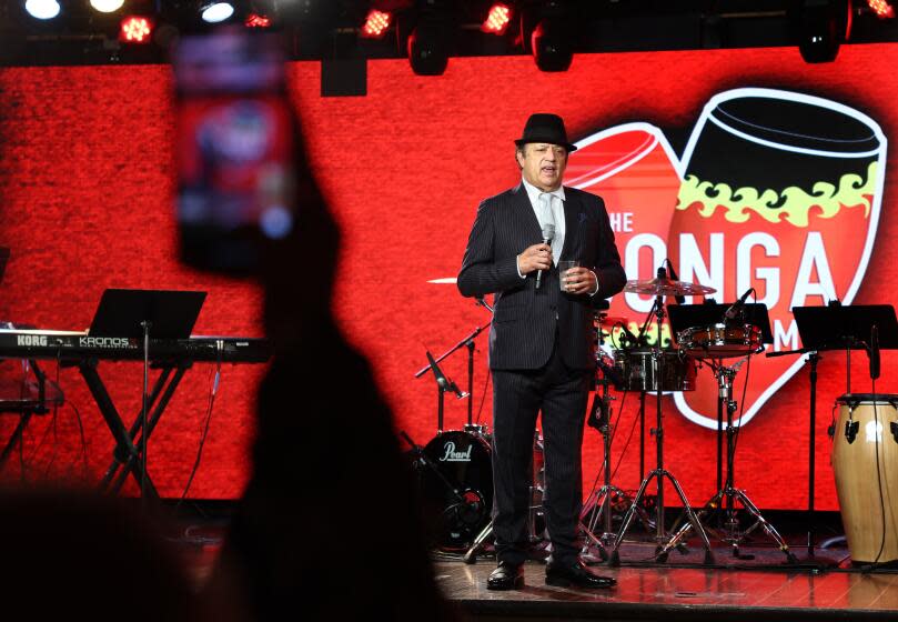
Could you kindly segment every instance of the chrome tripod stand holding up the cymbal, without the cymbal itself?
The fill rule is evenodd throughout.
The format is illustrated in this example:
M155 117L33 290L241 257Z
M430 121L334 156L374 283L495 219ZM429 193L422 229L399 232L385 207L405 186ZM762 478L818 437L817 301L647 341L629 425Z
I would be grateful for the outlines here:
M659 277L664 269L659 269L658 273ZM608 559L608 565L620 565L620 555L619 549L620 543L624 541L624 536L627 533L630 524L633 523L633 518L636 514L636 509L639 506L639 502L643 500L645 495L645 491L648 488L648 484L654 479L657 483L657 502L655 504L655 542L658 546L658 560L664 561L667 556L667 548L662 549L662 543L668 540L672 540L668 534L665 532L664 526L664 479L667 478L674 486L679 500L683 502L683 511L686 513L689 520L689 525L693 526L702 538L702 543L705 546L705 563L709 564L714 562L714 554L710 551L710 542L708 541L708 535L705 533L705 530L702 528L702 523L698 522L698 516L693 512L689 502L686 500L686 494L684 494L683 489L679 485L677 479L664 468L664 418L662 414L662 393L663 391L663 379L664 379L664 357L662 355L662 324L664 323L664 293L657 292L655 297L655 303L653 305L653 311L655 313L655 323L658 329L656 339L655 339L655 348L653 352L653 363L655 371L655 379L658 383L658 387L655 388L656 394L656 402L655 402L655 414L656 414L656 428L655 428L655 447L656 447L656 457L657 457L657 468L654 471L650 471L646 474L643 483L639 485L639 491L636 493L636 498L633 500L633 503L627 510L626 515L624 516L624 522L620 525L620 531L617 533L617 538L614 541L614 546L611 552L611 556ZM652 313L652 311L649 311Z

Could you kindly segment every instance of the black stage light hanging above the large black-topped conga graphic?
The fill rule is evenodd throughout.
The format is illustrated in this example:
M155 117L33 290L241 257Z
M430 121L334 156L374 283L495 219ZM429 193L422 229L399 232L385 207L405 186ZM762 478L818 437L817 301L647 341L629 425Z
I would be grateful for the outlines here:
M797 29L805 62L833 62L850 33L850 0L803 0Z

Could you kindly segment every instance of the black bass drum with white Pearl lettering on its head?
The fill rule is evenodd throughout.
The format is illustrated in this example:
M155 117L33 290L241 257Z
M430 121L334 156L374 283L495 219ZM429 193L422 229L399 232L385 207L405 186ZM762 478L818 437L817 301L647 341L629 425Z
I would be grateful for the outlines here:
M467 549L490 522L493 463L481 432L437 434L424 448L422 496L437 548Z

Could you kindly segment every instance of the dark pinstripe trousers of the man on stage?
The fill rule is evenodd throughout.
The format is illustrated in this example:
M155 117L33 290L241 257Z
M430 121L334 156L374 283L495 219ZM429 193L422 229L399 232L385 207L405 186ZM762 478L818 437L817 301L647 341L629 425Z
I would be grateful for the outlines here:
M576 560L583 503L581 445L592 372L571 369L555 345L538 370L493 370L493 533L498 561L527 559L533 438L542 411L543 509L554 561Z

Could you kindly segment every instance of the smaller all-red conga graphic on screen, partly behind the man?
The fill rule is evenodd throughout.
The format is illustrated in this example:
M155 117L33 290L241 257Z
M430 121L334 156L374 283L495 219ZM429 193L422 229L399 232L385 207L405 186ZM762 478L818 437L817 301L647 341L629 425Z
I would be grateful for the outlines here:
M680 187L676 162L664 133L649 123L608 128L577 142L571 154L565 184L605 201L627 279L654 278L655 268L667 257L667 233ZM609 314L628 318L628 328L636 332L653 300L637 293L616 295ZM647 332L650 342L655 332L653 323Z

